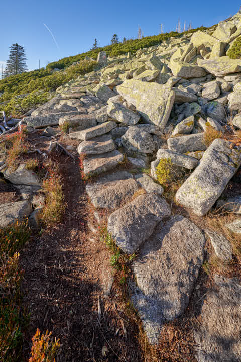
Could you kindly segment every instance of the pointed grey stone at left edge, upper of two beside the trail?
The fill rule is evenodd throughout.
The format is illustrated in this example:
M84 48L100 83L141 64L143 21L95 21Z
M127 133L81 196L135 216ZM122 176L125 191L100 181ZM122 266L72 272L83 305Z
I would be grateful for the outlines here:
M17 185L42 185L37 174L32 170L26 169L25 164L19 165L19 167L13 172L9 168L5 169L4 178L9 180L12 184Z

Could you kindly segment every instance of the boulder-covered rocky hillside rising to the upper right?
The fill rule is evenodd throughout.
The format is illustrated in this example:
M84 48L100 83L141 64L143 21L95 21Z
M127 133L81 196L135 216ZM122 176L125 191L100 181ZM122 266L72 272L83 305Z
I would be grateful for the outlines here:
M100 52L96 71L23 119L30 134L47 127L46 157L53 143L69 159L77 150L94 210L88 242L105 241L115 258L131 261L128 297L149 345L188 311L198 362L241 360L241 60L228 56L238 37L239 13L214 32L135 54ZM41 186L24 163L12 171L2 161L12 184ZM11 210L14 218L33 211L23 203L4 204L2 227ZM113 274L99 273L101 298L111 300ZM178 353L168 360L191 360Z

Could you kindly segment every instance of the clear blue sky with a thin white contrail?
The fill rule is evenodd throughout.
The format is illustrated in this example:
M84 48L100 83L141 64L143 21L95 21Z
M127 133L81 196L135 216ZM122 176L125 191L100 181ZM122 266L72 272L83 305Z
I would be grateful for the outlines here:
M183 27L211 26L235 14L241 1L231 0L12 0L0 3L0 65L5 64L11 44L23 45L29 70L46 61L88 51L94 38L108 45L112 35L137 38L138 25L144 36ZM46 26L52 31L55 44Z

